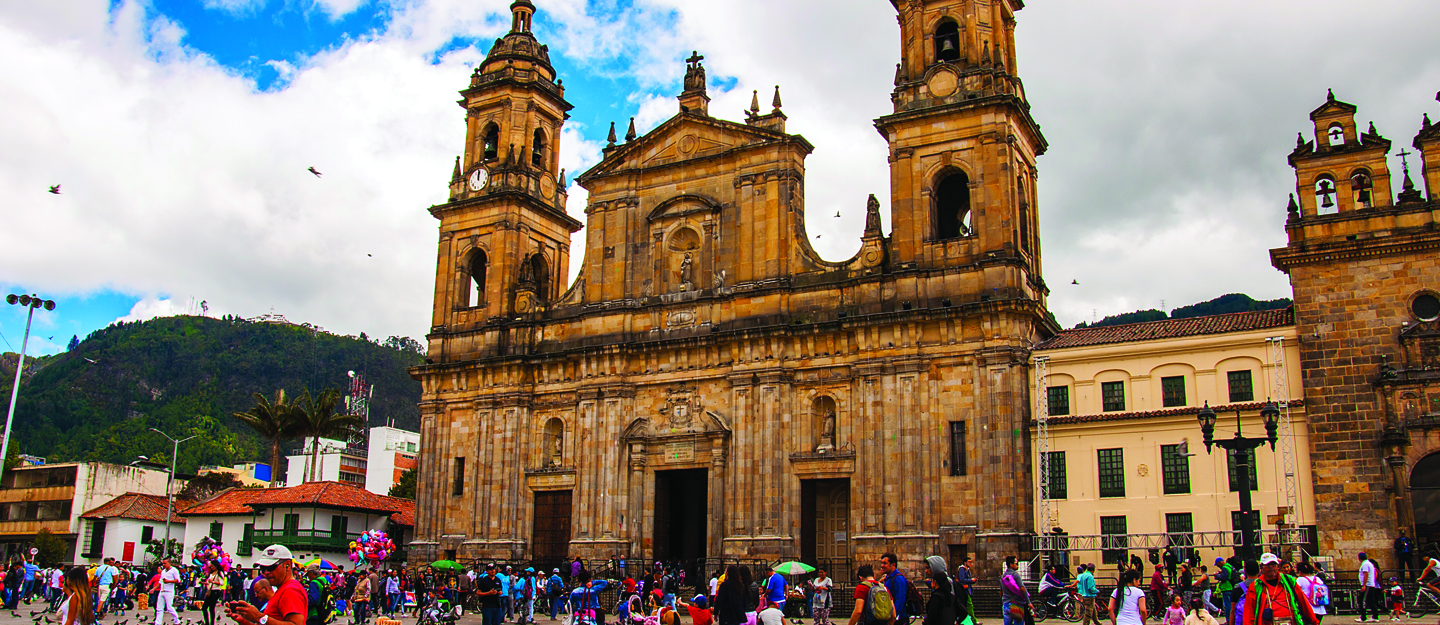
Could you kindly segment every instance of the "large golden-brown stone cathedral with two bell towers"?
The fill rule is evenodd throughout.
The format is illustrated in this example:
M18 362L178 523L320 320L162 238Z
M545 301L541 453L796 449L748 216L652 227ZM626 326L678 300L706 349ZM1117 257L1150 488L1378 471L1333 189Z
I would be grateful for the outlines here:
M703 58L675 115L611 130L566 215L563 79L511 6L461 91L439 220L415 562L801 559L1030 550L1035 158L1021 0L891 0L890 223L822 259L779 91L711 115ZM824 184L824 181L821 181ZM580 272L563 284L570 235Z

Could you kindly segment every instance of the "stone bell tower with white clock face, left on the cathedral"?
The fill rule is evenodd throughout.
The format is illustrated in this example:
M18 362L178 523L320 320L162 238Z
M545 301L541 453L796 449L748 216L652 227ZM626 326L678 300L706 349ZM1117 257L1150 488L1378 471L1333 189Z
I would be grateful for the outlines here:
M465 150L449 202L431 207L441 220L432 343L544 310L564 289L570 233L582 226L564 210L559 168L572 107L549 49L530 32L534 4L516 0L510 10L510 33L461 91Z

